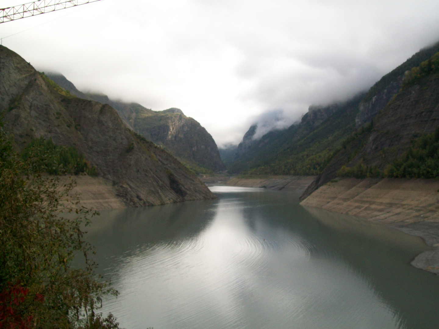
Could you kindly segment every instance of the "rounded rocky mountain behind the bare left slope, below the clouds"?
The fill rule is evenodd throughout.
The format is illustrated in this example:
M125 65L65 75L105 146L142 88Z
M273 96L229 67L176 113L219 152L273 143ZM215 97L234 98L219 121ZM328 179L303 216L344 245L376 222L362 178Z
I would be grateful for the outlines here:
M111 105L130 129L164 147L195 171L225 169L212 136L180 109L152 111L137 103L110 100L106 95L82 93L59 73L47 76L77 97Z

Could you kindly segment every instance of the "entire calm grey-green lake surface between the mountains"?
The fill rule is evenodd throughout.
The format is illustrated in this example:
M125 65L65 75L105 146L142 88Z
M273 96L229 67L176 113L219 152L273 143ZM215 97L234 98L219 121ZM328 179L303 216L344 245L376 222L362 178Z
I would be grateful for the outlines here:
M212 187L216 200L102 212L88 229L105 300L129 329L439 328L427 247L298 196Z

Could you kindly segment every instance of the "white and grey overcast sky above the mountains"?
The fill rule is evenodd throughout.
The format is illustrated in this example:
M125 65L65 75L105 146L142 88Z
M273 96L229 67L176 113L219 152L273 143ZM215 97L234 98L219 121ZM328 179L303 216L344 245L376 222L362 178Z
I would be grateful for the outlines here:
M3 45L37 69L179 107L220 146L368 89L439 40L439 0L101 0L0 24L0 37L26 29Z

